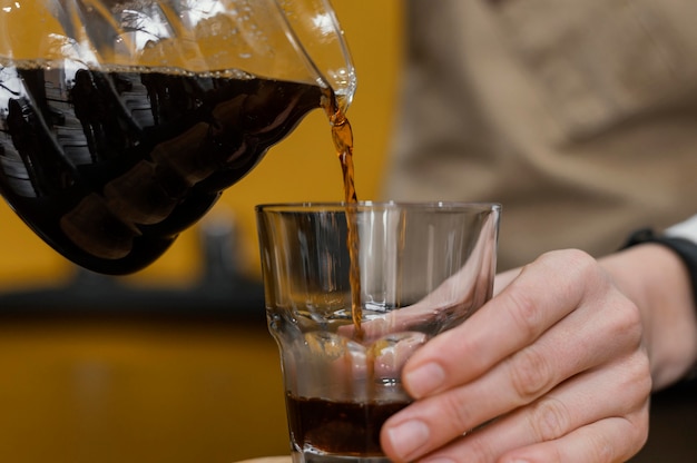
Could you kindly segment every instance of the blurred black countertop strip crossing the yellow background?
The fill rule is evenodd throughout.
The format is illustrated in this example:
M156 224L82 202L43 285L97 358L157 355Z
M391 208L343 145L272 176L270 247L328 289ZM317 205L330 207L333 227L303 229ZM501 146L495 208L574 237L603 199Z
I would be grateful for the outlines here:
M140 287L75 266L66 285L0 292L0 316L157 316L266 321L264 287L239 270L232 226L200 234L203 274L186 287Z

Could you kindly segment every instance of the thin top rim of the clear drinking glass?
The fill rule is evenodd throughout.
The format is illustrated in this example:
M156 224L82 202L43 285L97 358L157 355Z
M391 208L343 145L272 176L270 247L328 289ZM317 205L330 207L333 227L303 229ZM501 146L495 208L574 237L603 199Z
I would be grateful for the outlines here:
M302 211L343 211L350 209L414 209L414 210L492 210L500 211L501 204L495 201L372 201L361 200L357 203L346 201L289 201L289 203L264 203L254 207L256 213L302 213Z

